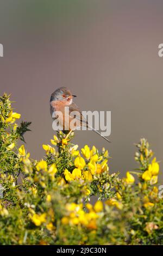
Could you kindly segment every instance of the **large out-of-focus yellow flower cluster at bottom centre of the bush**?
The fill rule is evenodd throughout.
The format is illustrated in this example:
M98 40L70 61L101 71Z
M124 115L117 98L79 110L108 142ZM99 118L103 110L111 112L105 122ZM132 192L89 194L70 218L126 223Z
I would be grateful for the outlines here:
M103 203L97 201L94 207L87 203L86 209L83 210L83 204L70 203L66 204L67 216L62 217L62 224L83 225L88 229L97 229L97 219L100 217L99 213L103 210Z

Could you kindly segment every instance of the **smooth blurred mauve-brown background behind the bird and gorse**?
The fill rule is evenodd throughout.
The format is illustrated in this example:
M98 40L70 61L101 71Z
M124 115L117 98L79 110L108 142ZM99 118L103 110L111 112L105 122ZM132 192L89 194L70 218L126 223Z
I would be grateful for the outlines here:
M12 93L16 111L32 121L33 158L53 136L49 97L66 86L81 109L112 112L111 144L92 131L74 139L108 148L111 172L137 166L141 136L162 160L162 24L162 0L1 0L0 94Z

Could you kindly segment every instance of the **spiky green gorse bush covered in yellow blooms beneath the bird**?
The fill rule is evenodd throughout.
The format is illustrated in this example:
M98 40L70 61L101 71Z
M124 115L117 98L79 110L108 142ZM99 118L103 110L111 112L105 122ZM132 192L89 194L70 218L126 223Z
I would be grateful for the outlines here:
M9 96L0 101L1 245L157 245L163 243L159 163L146 139L136 145L139 168L120 179L108 151L72 144L73 132L43 144L33 161L24 148L30 123L16 120ZM98 198L90 204L90 198ZM102 199L104 199L102 201Z

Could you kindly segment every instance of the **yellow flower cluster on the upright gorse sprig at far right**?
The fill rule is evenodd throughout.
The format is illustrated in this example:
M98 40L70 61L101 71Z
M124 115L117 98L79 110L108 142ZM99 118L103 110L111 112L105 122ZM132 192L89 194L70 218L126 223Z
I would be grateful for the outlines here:
M158 182L158 174L159 174L159 163L156 162L156 158L152 160L152 163L149 164L148 170L146 170L142 174L142 179L145 181L150 181L151 185L156 184Z

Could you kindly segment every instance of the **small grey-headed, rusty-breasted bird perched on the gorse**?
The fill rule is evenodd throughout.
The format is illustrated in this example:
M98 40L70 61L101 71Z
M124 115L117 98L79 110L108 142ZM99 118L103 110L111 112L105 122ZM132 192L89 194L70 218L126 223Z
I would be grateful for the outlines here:
M77 97L76 95L72 95L69 89L66 87L60 87L55 90L51 95L50 99L50 110L53 119L58 119L59 125L61 125L64 131L70 131L70 122L75 118L76 119L76 127L85 126L90 128L92 131L96 132L98 135L103 137L107 142L110 142L105 136L103 136L100 132L95 130L92 126L89 125L87 120L83 117L82 112L78 108L78 106L73 102L73 98ZM65 111L65 107L68 107L68 113ZM74 117L73 112L75 111L76 115ZM62 117L57 115L57 112L62 112ZM66 117L65 115L69 115Z

